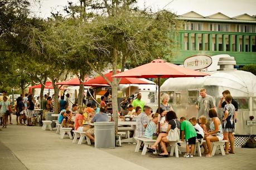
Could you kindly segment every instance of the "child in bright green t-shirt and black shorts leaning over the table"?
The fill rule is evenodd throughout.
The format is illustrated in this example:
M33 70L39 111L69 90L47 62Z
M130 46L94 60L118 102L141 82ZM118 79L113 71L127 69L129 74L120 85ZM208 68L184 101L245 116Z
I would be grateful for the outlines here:
M181 141L184 140L184 134L186 139L186 154L184 154L185 158L192 158L193 152L196 144L196 130L193 125L186 121L185 117L180 118L181 122ZM191 154L189 153L189 147L191 146Z

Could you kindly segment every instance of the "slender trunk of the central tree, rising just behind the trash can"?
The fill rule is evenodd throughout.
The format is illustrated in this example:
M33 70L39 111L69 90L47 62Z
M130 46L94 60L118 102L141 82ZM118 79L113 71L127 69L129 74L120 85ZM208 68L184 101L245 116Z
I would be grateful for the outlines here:
M118 51L116 48L113 50L113 75L117 73L117 58L118 58ZM112 78L112 117L115 122L115 132L117 132L118 127L118 103L117 103L117 88L118 82L117 78Z

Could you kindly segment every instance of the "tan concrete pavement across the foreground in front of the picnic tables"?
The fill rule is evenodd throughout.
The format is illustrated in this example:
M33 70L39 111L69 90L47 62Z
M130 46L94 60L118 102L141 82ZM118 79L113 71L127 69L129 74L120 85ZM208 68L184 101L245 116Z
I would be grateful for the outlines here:
M2 142L2 143L1 143ZM8 147L8 149L6 147ZM0 131L0 169L255 169L256 149L235 148L235 154L194 158L152 158L135 153L135 144L115 149L95 149L60 139L41 127L9 125ZM2 148L3 151L2 151ZM12 158L7 158L11 153ZM17 157L17 158L16 158ZM5 161L9 159L9 161ZM7 164L7 165L6 165ZM170 167L170 168L168 168ZM4 168L6 169L6 168Z

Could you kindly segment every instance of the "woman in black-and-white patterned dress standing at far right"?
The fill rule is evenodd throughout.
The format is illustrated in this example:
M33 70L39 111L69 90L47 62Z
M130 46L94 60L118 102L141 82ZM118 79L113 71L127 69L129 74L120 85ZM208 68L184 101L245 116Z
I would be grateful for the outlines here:
M231 104L232 97L230 94L226 95L225 102L226 105L224 107L224 116L223 116L223 134L224 139L230 142L231 153L234 153L234 137L233 132L235 132L235 121L234 121L234 113L235 107ZM229 142L225 143L225 152L229 154Z

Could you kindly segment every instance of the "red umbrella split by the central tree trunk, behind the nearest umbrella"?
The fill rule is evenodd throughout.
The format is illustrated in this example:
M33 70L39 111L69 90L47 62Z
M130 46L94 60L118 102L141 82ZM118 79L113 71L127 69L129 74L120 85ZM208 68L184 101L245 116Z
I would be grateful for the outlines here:
M117 73L120 73L120 72L117 72ZM112 82L112 76L113 76L112 71L110 71L107 74L104 74L104 76L107 77L107 79L110 82ZM98 77L90 79L89 81L84 83L84 85L86 85L86 86L92 86L93 84L108 84L108 82L102 76L98 76ZM143 81L138 78L124 77L124 78L120 79L119 84L151 84L151 83ZM108 85L110 85L110 84L108 84Z

